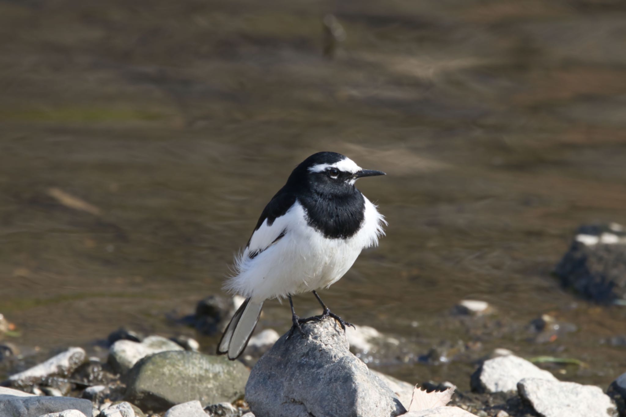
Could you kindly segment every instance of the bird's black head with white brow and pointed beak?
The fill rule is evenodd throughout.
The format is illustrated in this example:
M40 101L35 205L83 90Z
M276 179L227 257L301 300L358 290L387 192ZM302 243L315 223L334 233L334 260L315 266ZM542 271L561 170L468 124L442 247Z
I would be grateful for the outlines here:
M296 186L306 184L319 194L341 195L352 192L357 179L376 175L385 173L362 169L352 159L339 153L318 152L302 161L288 182Z

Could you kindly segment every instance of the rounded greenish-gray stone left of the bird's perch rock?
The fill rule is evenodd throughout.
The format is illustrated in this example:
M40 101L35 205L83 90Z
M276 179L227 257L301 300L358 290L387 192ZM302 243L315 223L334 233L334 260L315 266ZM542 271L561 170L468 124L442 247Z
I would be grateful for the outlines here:
M141 409L165 411L195 399L203 406L243 396L249 371L225 356L169 351L141 359L126 378L126 399Z

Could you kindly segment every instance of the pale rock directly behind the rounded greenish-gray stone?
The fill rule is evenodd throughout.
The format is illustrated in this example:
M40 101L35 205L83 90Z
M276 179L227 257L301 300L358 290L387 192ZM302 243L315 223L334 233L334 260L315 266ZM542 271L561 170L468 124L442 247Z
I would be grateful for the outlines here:
M108 363L118 373L125 374L141 358L151 354L184 350L177 343L161 336L148 336L141 343L118 340L109 349Z

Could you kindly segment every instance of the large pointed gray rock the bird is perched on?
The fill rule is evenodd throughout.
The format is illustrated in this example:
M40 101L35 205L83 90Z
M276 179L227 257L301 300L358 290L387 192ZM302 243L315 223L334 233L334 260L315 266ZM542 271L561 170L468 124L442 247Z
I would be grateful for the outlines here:
M332 318L284 334L252 369L245 398L257 417L398 416L393 391L350 353Z

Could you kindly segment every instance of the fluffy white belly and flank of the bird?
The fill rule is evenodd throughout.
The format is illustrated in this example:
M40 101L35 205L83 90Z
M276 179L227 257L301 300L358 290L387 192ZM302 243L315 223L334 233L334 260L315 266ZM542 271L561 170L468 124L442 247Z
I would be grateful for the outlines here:
M275 220L279 229L284 224L284 238L254 259L242 258L237 276L227 287L262 300L330 286L351 268L362 249L376 246L384 233L384 219L367 198L365 208L363 223L354 236L327 239L307 224L304 208L295 203L285 216Z

